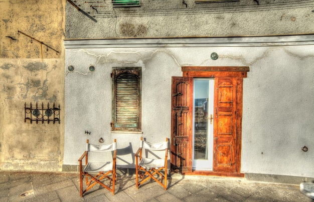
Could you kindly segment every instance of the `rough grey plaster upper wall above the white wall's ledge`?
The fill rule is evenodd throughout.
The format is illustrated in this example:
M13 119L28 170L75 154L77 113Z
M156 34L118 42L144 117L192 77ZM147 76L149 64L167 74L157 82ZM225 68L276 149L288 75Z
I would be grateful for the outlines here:
M195 4L194 0L144 0L114 8L111 1L66 4L67 39L261 36L313 33L314 2L241 0Z

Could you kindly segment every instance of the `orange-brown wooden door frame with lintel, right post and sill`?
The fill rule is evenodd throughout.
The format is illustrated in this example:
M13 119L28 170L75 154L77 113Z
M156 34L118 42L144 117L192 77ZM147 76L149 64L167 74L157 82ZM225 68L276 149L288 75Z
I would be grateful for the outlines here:
M240 173L241 171L243 78L247 77L247 72L249 72L249 67L247 66L239 66L239 67L184 66L182 67L182 72L183 72L183 77L193 77L193 78L237 77L236 109L235 109L237 113L236 114L237 124L236 124L236 145L235 145L235 151L236 151L235 171L230 173L230 172L195 170L192 172L187 172L185 174L244 177L244 173ZM216 80L215 80L214 86L216 86Z

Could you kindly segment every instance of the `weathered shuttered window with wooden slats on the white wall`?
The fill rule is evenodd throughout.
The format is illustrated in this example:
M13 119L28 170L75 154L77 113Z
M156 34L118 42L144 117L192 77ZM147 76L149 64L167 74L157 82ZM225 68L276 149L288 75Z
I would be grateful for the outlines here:
M112 69L112 130L141 130L141 68Z

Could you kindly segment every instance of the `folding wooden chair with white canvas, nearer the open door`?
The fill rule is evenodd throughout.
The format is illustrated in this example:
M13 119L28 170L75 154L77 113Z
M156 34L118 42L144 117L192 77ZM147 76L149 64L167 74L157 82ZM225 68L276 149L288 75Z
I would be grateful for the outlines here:
M154 151L162 151L165 150L165 158L147 158L143 156L143 151L145 151L146 156L150 154L153 155ZM149 156L149 157L150 157ZM138 163L139 158L139 163ZM146 141L143 141L143 138L140 138L140 147L135 153L135 164L136 164L136 188L139 185L143 184L148 179L153 179L160 183L165 190L167 190L167 162L168 162L168 138L166 138L166 142L151 144ZM164 170L164 173L162 171ZM154 175L157 176L155 177ZM159 176L161 179L159 180ZM141 178L141 181L138 182L138 178ZM163 179L165 179L165 183L163 184Z

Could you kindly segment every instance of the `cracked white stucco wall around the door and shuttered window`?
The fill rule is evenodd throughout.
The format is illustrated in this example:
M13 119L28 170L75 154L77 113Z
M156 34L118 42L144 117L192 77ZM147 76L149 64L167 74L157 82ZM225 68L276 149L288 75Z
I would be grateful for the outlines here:
M116 138L118 148L131 144L133 152L140 136L170 138L171 77L182 76L182 66L249 66L243 85L241 172L314 177L313 39L65 41L65 67L75 69L65 72L63 164L78 164L86 138L92 143ZM212 52L218 60L210 59ZM142 67L142 134L110 130L112 67ZM131 155L124 160L134 167Z

